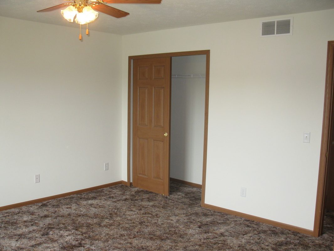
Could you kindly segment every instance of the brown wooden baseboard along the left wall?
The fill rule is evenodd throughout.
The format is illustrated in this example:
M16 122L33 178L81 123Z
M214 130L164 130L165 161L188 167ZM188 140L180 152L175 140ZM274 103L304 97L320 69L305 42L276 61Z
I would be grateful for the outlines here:
M124 184L124 183L127 183L127 182L125 182L123 180L122 181L116 181L116 182L113 182L113 183L108 183L108 184L104 184L104 185L100 185L100 186L93 186L93 187L89 187L89 188L85 188L85 189L76 190L76 191L73 191L73 192L61 193L61 194L57 194L57 195L53 195L53 196L40 198L40 199L33 199L33 200L28 200L28 201L24 201L24 202L20 202L20 203L16 203L16 204L11 204L11 205L7 205L7 206L1 206L0 211L16 208L16 207L20 207L20 206L31 205L31 204L51 200L51 199L58 199L58 198L66 197L66 196L73 195L73 194L90 192L90 191L93 191L93 190L98 190L98 189L106 188L106 187L110 187L110 186L121 185L121 184Z

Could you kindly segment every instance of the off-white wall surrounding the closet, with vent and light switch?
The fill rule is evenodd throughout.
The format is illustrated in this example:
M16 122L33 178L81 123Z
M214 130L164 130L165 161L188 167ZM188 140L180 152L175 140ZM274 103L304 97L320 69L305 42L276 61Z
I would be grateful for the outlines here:
M259 37L274 17L123 36L123 179L128 56L210 50L205 203L313 230L334 10L290 16L291 36Z

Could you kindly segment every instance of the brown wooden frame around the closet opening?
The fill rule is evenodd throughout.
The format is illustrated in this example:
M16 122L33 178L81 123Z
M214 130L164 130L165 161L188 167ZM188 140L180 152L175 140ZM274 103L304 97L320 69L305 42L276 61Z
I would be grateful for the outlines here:
M179 56L194 56L194 55L206 55L206 68L205 68L205 109L204 109L204 145L203 145L203 174L202 174L202 197L201 206L204 206L205 196L205 177L206 177L206 156L207 156L207 136L208 136L208 111L209 111L209 69L210 69L210 50L203 51L189 51L189 52L172 52L172 53L160 53L149 55L129 56L128 61L128 173L126 185L130 186L130 151L131 151L131 62L134 59L144 58L159 58L159 57L179 57Z

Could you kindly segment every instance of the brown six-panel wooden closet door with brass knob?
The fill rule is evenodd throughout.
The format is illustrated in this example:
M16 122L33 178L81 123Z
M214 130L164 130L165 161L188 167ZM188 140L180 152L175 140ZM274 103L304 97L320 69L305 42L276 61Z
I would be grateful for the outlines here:
M133 61L133 186L169 195L171 57Z

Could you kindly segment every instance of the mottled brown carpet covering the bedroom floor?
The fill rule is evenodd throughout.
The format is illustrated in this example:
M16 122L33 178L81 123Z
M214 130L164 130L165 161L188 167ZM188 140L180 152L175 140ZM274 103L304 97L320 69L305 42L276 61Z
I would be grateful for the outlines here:
M0 250L333 250L333 213L316 238L202 208L200 196L118 185L2 211Z

